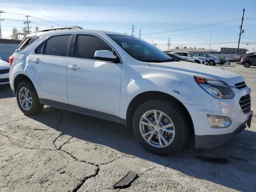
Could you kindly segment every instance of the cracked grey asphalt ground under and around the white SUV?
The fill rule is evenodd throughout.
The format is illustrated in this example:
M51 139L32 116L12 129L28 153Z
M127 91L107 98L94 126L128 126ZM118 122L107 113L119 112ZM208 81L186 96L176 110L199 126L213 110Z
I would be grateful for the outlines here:
M256 67L216 66L241 74L252 88L256 112ZM9 86L0 86L0 191L255 191L256 116L223 146L178 156L144 150L121 124L45 106L38 116L19 110ZM212 164L195 156L223 157ZM113 185L130 170L127 187Z

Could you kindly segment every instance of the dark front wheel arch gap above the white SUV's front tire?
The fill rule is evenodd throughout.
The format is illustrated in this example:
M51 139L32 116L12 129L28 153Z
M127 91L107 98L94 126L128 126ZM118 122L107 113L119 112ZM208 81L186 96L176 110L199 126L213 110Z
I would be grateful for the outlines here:
M174 96L171 96L170 94L160 92L160 91L142 92L142 93L136 95L131 100L131 102L128 105L127 111L126 111L126 126L127 126L127 128L132 128L132 118L133 118L134 112L136 111L138 106L140 106L140 104L142 104L143 102L151 100L151 99L168 99L168 100L170 100L170 102L175 102L180 107L182 107L182 109L184 110L184 113L186 114L186 116L189 119L189 124L191 125L190 131L192 132L192 134L194 134L194 124L193 124L192 118L191 118L187 108L182 104L182 102L180 102L180 100L178 100Z

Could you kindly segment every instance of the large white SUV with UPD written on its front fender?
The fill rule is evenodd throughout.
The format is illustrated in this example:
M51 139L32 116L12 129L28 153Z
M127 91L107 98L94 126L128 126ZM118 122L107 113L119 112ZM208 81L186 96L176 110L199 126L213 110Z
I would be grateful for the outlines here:
M61 28L60 28L61 29ZM244 78L176 62L140 38L116 32L42 30L10 57L10 85L24 114L44 104L125 124L150 152L223 144L250 126Z

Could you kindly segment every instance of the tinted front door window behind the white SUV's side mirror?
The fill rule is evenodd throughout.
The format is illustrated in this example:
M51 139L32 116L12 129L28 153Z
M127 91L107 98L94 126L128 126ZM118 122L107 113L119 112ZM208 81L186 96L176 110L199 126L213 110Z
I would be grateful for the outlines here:
M94 60L94 53L99 50L113 51L113 49L108 44L106 44L106 42L96 36L76 36L74 57Z

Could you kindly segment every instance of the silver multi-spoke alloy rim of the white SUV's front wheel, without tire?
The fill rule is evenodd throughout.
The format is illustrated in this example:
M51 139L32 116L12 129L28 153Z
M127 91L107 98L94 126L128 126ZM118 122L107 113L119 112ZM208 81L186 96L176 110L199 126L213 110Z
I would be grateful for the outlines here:
M144 140L157 148L167 147L175 137L172 119L160 110L149 110L140 118L140 133Z

